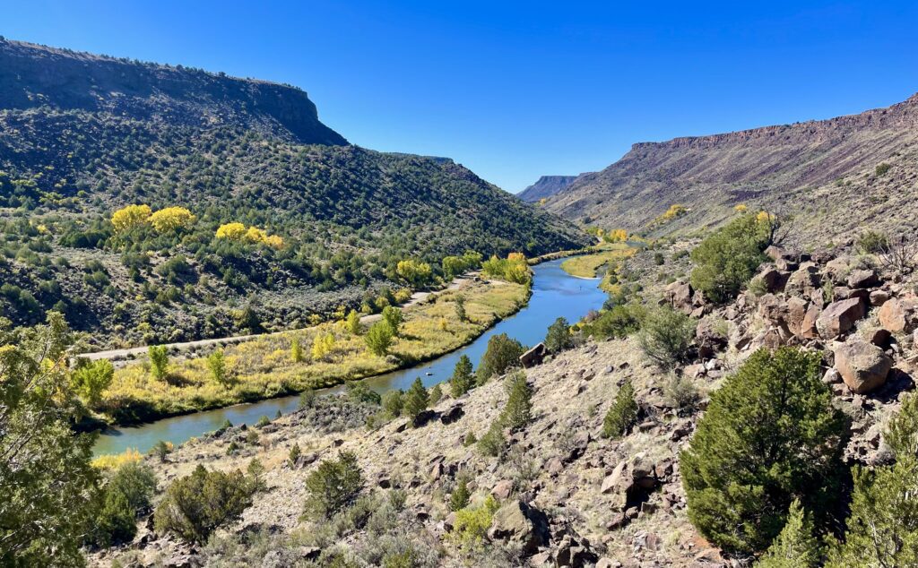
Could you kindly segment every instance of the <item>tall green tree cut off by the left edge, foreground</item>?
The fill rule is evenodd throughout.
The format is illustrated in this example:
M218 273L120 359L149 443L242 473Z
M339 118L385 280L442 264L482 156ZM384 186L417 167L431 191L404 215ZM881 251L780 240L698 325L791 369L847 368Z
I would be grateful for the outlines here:
M75 434L80 409L66 373L70 331L0 328L0 565L73 566L95 502L95 435Z

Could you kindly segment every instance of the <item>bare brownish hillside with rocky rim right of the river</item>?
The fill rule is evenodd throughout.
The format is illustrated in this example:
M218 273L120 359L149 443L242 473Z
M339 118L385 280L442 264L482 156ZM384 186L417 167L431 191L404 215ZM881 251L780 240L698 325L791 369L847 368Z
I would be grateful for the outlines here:
M638 143L545 208L655 234L719 223L741 203L792 213L800 235L817 239L860 228L865 219L890 230L914 228L916 126L918 95L847 117ZM674 204L689 214L647 227Z

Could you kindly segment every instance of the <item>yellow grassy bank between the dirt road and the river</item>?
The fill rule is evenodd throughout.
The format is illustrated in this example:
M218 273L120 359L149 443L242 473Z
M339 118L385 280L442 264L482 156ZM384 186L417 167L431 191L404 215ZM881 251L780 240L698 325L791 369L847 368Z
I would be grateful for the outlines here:
M291 395L409 367L475 340L524 306L529 293L529 285L491 281L432 296L404 310L405 323L386 357L370 354L363 334L353 335L343 322L330 322L227 346L224 355L231 382L226 385L214 380L207 357L170 362L163 380L153 376L149 362L139 362L116 371L99 408L106 419L123 425ZM457 315L459 295L465 298L465 321ZM311 357L316 337L329 334L334 338L330 352ZM302 346L300 362L291 354L295 340Z

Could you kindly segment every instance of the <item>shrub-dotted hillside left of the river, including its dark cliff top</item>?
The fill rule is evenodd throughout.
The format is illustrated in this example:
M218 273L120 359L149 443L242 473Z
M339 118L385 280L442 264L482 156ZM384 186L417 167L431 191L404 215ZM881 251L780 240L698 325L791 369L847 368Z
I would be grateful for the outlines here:
M117 233L131 204L194 218ZM302 326L436 284L446 255L587 242L452 160L348 145L295 87L9 40L0 229L2 315L53 307L112 347Z

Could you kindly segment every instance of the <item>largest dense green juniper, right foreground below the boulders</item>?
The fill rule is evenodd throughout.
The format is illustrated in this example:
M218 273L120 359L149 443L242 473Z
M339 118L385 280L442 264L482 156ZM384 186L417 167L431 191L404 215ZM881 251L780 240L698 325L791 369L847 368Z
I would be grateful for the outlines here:
M679 455L689 519L711 542L762 551L793 499L818 526L838 504L847 421L819 371L818 353L762 349L711 395Z

